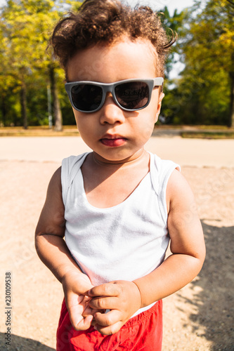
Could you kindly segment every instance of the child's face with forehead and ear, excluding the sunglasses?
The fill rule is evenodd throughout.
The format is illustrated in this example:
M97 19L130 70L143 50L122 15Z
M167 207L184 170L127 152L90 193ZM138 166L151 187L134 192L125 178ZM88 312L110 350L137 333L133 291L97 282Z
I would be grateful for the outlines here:
M67 66L72 81L113 83L124 79L152 79L155 74L155 55L146 40L130 41L122 38L112 46L93 46L75 55ZM143 110L126 112L118 107L111 93L97 112L74 110L74 117L82 139L109 162L136 159L143 152L160 114L164 96L160 88L152 91L150 104Z

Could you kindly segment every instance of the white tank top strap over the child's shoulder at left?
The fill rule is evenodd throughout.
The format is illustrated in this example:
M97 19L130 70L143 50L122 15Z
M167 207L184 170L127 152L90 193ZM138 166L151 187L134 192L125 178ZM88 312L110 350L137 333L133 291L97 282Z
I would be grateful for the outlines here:
M70 156L62 161L61 168L61 183L62 183L62 196L63 196L63 204L66 204L67 201L67 191L71 186L75 176L79 172L86 156L89 152L84 152L84 154L80 154L78 156Z

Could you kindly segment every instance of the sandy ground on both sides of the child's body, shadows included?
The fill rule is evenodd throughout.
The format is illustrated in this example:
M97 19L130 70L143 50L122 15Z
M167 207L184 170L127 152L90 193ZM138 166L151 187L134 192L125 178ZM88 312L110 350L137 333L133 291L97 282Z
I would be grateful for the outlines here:
M33 151L30 145L28 149ZM42 152L46 154L46 150ZM34 227L48 180L59 165L51 161L0 161L0 350L55 350L63 293L37 258ZM164 299L163 351L231 351L234 168L228 164L224 168L183 166L182 171L197 199L207 259L194 282ZM6 347L4 335L4 282L8 271L12 274L11 347Z

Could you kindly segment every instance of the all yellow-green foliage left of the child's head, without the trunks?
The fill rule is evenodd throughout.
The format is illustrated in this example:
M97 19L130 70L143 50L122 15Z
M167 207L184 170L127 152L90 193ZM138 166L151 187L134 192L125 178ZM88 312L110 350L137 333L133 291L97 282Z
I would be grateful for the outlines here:
M74 6L74 2L79 4L79 1L67 1L66 10ZM60 0L8 0L0 9L0 122L4 125L23 124L22 87L27 96L28 123L47 123L51 65L56 69L60 95L65 100L63 70L46 52L53 26L63 12L64 2Z

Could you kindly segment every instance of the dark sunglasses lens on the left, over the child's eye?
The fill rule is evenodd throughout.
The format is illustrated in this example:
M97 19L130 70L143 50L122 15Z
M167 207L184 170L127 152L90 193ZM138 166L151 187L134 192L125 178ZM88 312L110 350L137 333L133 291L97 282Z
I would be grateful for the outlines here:
M72 86L72 102L78 110L92 112L100 106L103 90L92 84L77 84Z

